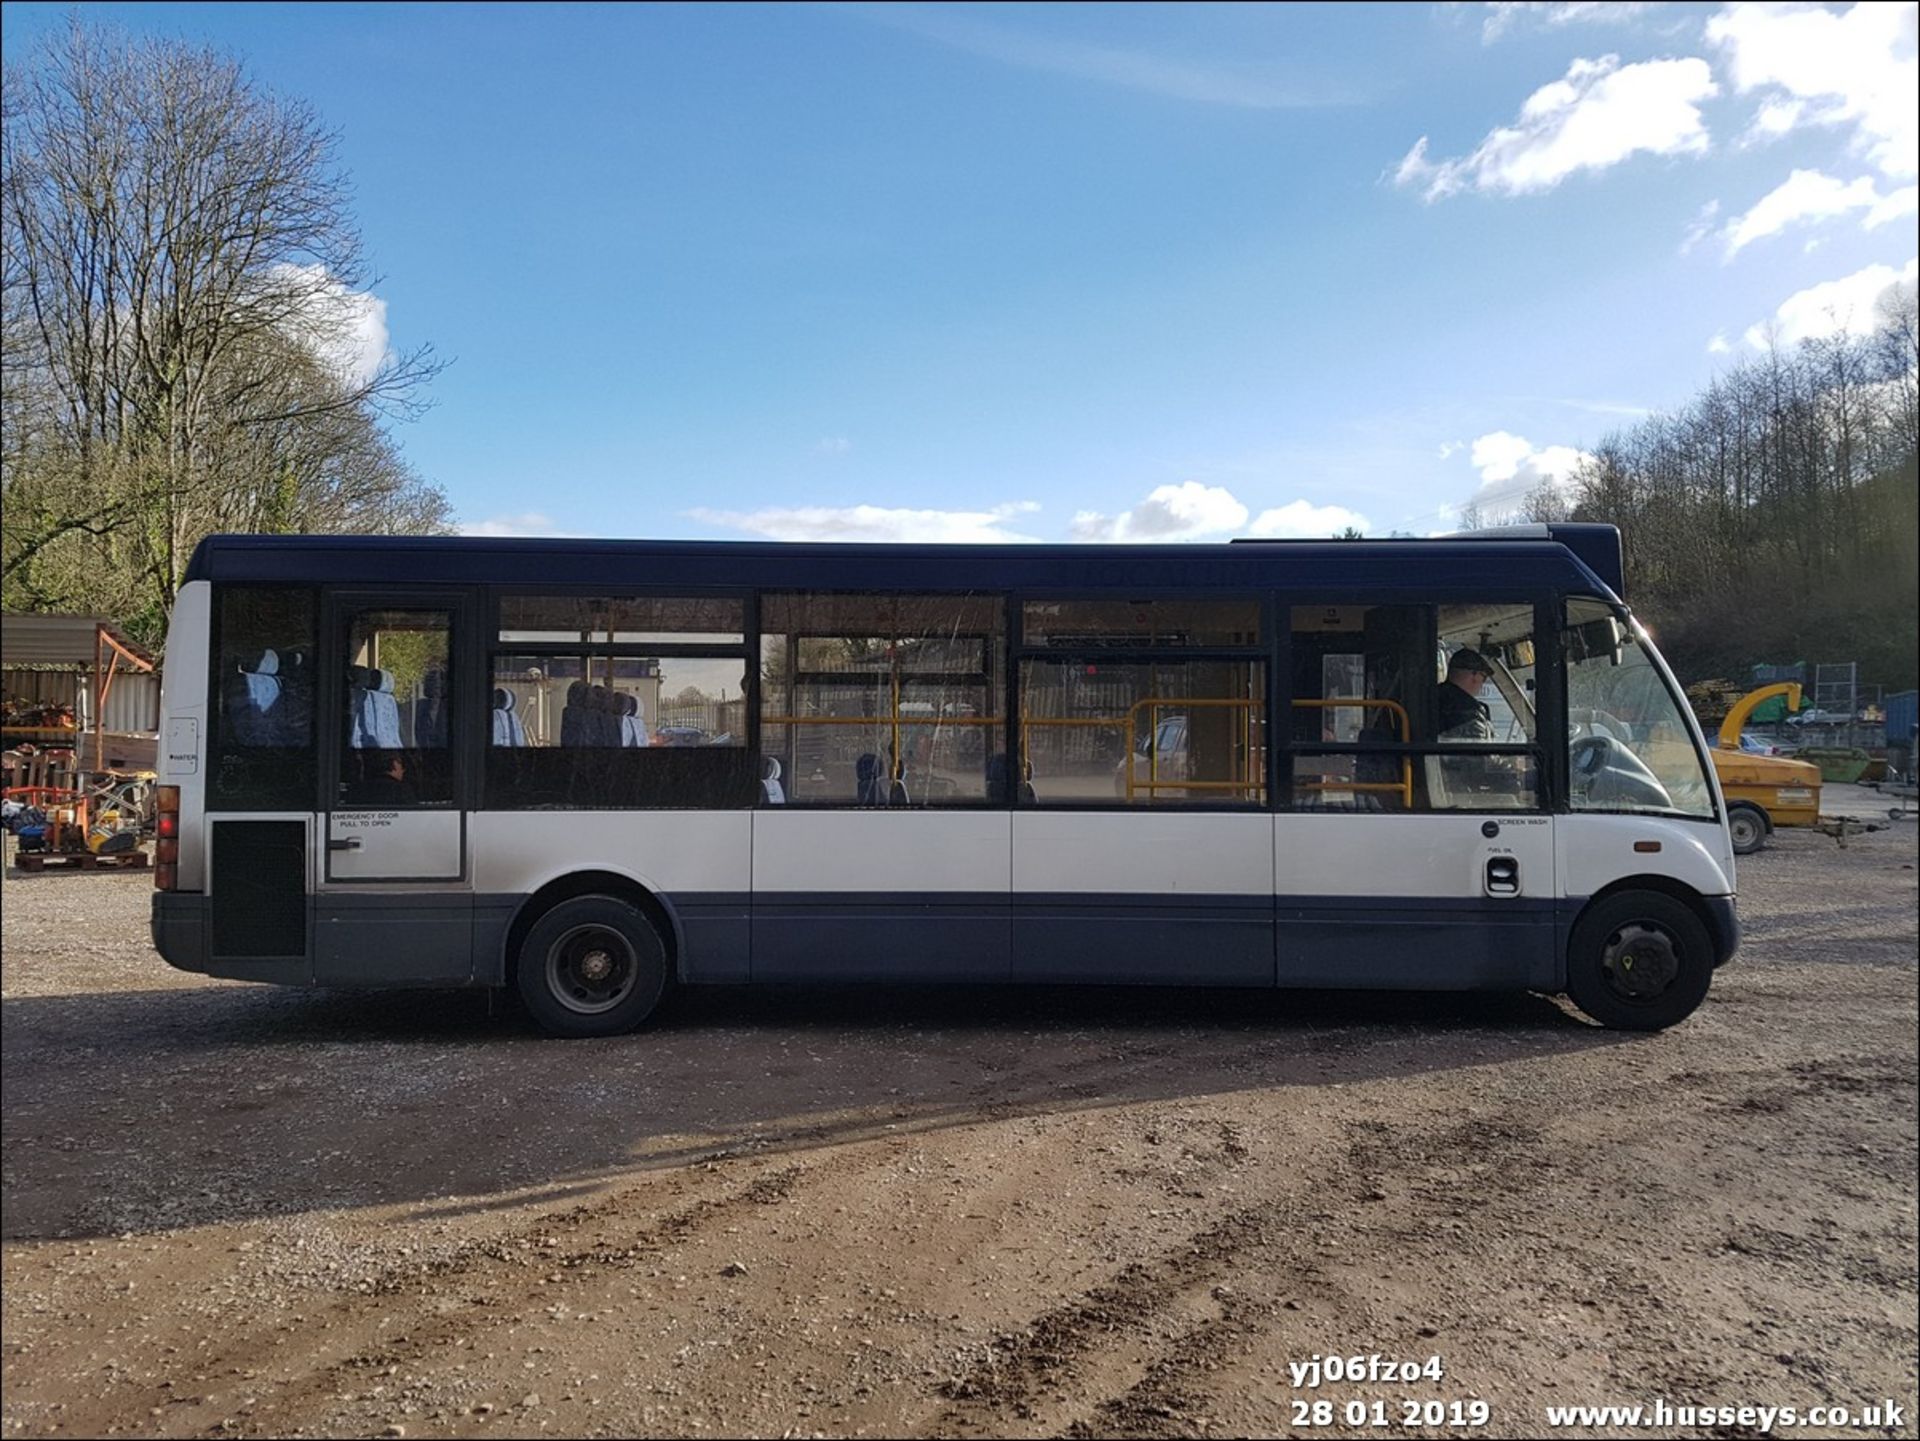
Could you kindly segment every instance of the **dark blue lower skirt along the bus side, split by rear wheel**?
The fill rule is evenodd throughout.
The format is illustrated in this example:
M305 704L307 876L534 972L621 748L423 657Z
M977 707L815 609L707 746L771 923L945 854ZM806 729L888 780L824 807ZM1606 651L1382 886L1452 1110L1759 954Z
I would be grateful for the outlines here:
M680 979L1561 990L1580 902L1116 894L668 894ZM156 892L182 969L336 986L501 984L526 896L311 902L311 956L207 956L207 898ZM1724 942L1722 942L1724 944ZM1730 948L1730 946L1728 946Z

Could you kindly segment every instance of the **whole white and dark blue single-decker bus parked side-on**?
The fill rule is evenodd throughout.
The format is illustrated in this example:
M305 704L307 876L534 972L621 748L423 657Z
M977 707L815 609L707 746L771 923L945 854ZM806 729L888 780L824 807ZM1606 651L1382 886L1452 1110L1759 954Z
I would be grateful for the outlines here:
M154 944L501 986L1567 992L1738 944L1619 533L1162 547L217 535L167 637Z

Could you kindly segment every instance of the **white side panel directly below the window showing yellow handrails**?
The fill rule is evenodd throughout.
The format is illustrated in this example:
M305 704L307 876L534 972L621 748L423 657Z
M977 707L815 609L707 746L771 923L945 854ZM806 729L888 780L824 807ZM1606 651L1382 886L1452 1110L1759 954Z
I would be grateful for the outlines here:
M1265 896L1273 817L1083 812L1014 817L1016 894Z

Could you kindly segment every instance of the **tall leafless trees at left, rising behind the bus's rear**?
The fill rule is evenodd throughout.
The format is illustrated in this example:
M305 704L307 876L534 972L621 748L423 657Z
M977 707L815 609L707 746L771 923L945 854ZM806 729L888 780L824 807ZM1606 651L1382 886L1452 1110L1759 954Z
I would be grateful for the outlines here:
M307 106L75 19L8 67L0 171L10 597L90 556L163 616L217 526L445 526L382 428L438 365L349 359L371 278Z

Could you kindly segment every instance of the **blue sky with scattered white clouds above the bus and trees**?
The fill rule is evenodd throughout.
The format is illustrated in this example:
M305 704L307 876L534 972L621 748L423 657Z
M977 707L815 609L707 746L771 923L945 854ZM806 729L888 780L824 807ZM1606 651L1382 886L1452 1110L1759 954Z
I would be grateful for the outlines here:
M1425 533L1914 278L1912 4L79 10L340 130L482 533Z

